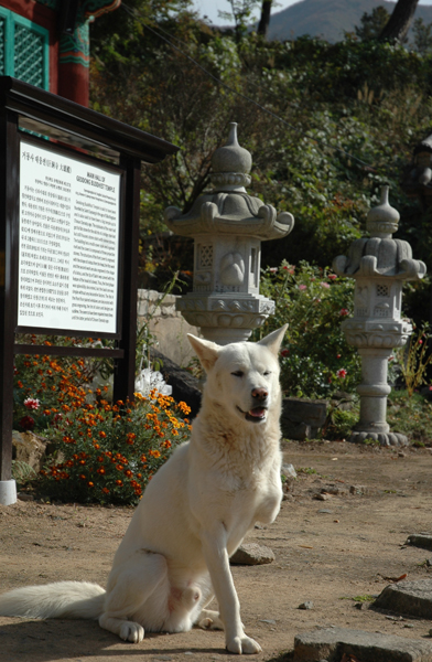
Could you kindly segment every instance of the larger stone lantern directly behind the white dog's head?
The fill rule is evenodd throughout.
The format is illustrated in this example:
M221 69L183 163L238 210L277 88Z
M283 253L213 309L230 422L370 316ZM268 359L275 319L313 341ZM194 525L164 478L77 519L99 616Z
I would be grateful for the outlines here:
M180 297L176 308L207 340L219 344L247 340L274 310L259 293L261 241L287 236L292 214L248 195L252 160L237 142L230 124L224 147L212 157L213 191L205 192L182 214L165 210L174 233L194 238L193 291Z

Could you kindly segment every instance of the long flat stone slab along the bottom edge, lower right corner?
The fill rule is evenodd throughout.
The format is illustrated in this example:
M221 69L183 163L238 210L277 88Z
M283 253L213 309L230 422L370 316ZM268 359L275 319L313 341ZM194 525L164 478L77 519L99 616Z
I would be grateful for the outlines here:
M432 662L432 642L344 628L304 632L294 639L293 662L341 662L344 653L361 662Z

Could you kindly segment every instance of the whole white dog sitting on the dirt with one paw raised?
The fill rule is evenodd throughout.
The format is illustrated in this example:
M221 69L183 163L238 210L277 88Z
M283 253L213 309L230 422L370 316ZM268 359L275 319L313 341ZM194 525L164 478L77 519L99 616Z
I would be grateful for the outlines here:
M207 381L191 440L145 488L116 553L106 591L60 581L0 596L1 616L99 619L139 642L194 624L224 629L231 653L258 653L247 637L229 557L282 498L278 352L287 327L258 343L219 346L190 335ZM205 607L216 595L219 612Z

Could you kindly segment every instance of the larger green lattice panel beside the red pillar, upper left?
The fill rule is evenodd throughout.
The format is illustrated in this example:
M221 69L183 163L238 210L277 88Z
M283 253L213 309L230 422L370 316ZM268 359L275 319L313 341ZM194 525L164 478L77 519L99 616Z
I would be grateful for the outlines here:
M44 86L44 39L24 25L15 25L14 76Z

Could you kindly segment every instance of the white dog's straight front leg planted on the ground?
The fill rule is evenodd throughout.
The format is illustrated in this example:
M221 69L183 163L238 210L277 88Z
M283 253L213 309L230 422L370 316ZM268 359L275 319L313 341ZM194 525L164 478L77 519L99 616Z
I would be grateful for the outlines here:
M245 634L240 620L238 601L227 552L227 532L224 524L217 523L201 536L216 599L219 605L220 620L225 627L226 647L230 653L259 653L261 647Z

